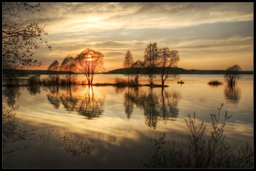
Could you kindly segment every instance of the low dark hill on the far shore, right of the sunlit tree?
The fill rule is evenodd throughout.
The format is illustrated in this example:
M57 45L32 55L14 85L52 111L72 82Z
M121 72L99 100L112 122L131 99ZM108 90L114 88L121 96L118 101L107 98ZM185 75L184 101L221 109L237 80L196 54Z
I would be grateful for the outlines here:
M155 69L154 74L158 74L158 68ZM104 72L103 74L124 74L125 69L115 69L108 72ZM141 74L145 74L146 70L142 69ZM170 70L171 74L225 74L226 70L187 70L181 69L179 67L173 67ZM253 71L240 71L240 74L253 74Z

